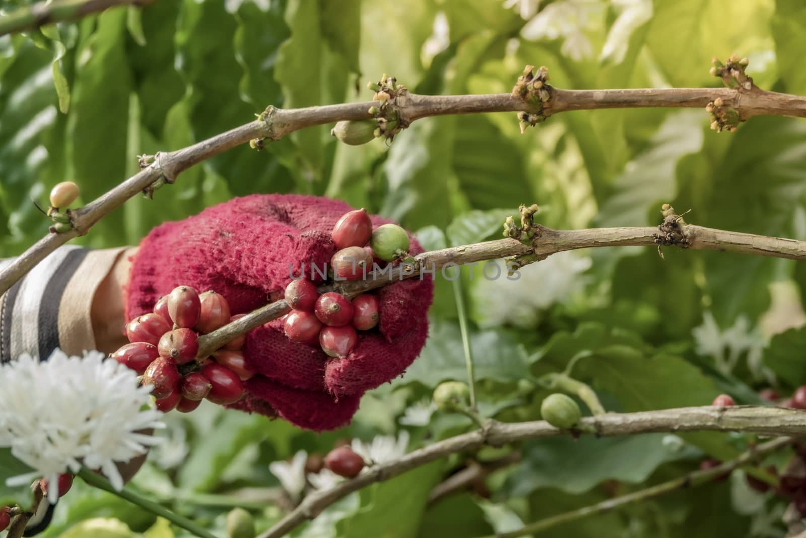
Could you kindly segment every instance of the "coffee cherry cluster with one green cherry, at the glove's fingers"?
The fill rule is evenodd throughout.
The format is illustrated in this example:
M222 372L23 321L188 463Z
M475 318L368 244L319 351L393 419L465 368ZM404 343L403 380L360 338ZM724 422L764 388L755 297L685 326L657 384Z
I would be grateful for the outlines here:
M364 278L373 264L385 266L409 249L409 236L403 228L384 224L373 231L364 209L344 214L331 237L339 248L330 259L330 271L337 282ZM285 301L293 308L285 319L285 336L321 346L330 357L346 357L358 341L356 331L369 331L380 320L375 295L362 294L352 301L332 291L320 295L305 275L286 286Z

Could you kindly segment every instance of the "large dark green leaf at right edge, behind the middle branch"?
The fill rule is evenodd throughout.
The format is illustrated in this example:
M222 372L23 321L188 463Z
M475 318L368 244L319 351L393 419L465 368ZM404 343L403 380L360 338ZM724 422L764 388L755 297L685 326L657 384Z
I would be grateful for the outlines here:
M806 126L785 118L751 119L729 138L706 136L702 154L680 162L674 206L681 212L692 209L685 219L702 226L798 237L806 195L804 151ZM753 318L765 311L767 284L791 273L793 265L730 252L695 256L704 262L705 291L722 326L740 313Z

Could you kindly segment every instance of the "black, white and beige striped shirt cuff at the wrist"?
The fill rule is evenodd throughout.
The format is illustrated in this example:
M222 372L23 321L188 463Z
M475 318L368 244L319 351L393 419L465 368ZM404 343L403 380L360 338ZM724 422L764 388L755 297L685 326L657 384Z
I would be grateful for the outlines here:
M57 347L69 355L94 349L93 296L125 249L60 247L11 286L0 296L0 362L23 353L45 360Z

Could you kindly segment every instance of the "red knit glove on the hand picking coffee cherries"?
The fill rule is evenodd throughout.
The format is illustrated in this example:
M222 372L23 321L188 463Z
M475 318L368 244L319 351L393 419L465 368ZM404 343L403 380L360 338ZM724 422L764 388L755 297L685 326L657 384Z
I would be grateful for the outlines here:
M261 307L291 282L289 264L299 274L304 262L310 277L312 264L330 263L330 231L351 209L328 198L253 194L164 223L143 240L131 265L127 320L152 311L161 295L181 285L222 294L232 314ZM375 227L387 222L372 217ZM415 240L410 252L422 252ZM412 278L373 292L380 302L378 329L359 332L358 344L344 358L289 340L283 319L251 331L243 352L258 374L234 407L314 430L347 424L364 391L401 375L418 356L433 287L430 277Z

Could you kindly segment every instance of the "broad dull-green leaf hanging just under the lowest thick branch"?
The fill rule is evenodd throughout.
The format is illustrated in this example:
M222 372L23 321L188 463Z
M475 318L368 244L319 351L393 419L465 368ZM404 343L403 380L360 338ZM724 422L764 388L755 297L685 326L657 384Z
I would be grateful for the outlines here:
M580 494L606 480L645 482L668 461L696 457L699 451L664 442L667 434L639 436L552 437L529 441L523 461L509 475L511 495L526 495L542 487Z

